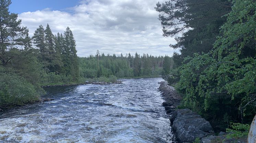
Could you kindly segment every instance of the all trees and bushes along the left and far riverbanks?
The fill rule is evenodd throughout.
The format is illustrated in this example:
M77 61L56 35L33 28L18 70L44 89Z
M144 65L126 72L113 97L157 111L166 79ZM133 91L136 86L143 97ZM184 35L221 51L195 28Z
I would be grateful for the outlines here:
M54 35L50 26L40 25L33 37L21 25L18 14L9 12L11 0L0 0L0 109L38 101L42 86L89 82L116 82L124 77L159 77L168 56L135 53L78 57L69 27Z

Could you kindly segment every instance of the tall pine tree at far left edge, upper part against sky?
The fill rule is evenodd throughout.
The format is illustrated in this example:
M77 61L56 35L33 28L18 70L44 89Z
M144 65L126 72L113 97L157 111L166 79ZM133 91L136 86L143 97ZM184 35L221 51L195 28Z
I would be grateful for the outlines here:
M21 27L18 14L10 13L11 0L0 0L0 61L5 66L13 58L9 49L14 45L23 45L26 27Z

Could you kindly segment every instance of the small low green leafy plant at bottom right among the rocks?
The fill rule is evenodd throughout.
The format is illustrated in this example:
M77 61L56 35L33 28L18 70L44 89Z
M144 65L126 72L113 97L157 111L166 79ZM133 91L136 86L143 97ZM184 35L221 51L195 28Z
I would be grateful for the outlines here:
M231 128L232 129L226 129L226 132L228 133L226 135L227 139L246 138L250 130L250 125L240 124L240 123L231 123Z

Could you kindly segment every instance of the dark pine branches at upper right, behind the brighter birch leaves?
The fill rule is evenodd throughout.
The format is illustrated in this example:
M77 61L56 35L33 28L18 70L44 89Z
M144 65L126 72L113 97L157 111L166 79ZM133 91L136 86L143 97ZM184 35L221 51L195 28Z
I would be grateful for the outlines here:
M226 21L222 16L230 12L230 5L229 0L169 0L156 4L163 36L173 37L183 32L181 37L175 38L177 44L170 45L180 51L173 54L177 66L187 56L213 49L220 35L219 28Z

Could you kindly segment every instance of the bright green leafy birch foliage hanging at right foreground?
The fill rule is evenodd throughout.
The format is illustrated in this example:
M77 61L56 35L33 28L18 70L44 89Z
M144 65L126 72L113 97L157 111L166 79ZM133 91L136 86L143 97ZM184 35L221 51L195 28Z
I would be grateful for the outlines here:
M185 94L184 106L206 117L222 120L228 113L250 121L256 99L256 2L232 3L214 50L185 58L177 88Z

